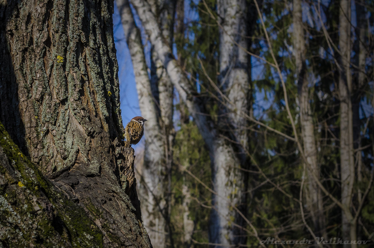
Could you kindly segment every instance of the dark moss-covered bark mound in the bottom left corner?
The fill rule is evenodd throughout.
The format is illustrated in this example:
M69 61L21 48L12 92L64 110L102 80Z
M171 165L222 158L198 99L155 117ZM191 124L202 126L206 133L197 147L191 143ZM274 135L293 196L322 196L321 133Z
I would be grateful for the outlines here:
M103 232L22 154L0 123L2 247L103 247Z

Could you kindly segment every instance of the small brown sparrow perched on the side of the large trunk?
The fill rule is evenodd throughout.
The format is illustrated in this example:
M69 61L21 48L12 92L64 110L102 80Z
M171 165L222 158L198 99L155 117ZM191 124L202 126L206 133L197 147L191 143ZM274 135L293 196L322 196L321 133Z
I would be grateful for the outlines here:
M131 121L126 125L125 128L125 148L128 148L131 145L136 145L139 143L144 133L144 122L147 121L141 116L135 116Z

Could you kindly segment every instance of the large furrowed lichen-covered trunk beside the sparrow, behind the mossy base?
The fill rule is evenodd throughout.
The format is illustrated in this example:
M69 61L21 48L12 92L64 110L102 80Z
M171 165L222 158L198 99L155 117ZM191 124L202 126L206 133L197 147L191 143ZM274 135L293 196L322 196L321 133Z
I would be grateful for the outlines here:
M111 1L2 1L0 120L105 247L149 247L121 142L112 13Z

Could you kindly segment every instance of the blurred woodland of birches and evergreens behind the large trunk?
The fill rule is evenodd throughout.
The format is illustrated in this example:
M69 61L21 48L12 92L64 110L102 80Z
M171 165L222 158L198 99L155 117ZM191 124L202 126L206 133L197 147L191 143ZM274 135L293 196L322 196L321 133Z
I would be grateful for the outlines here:
M372 1L116 3L154 247L373 244Z

